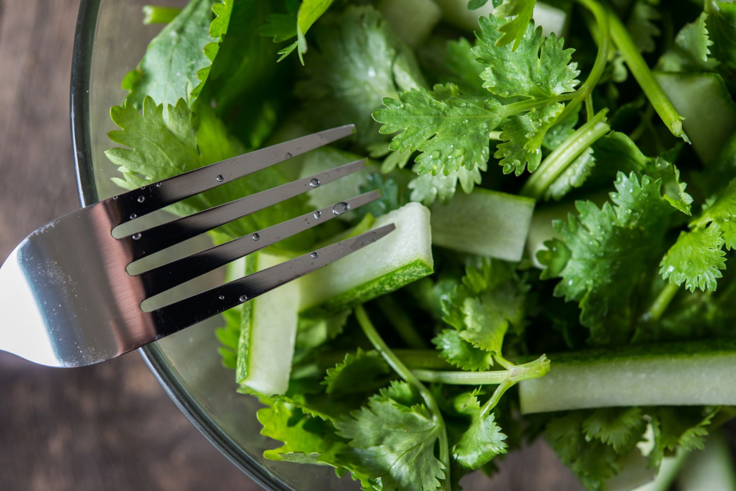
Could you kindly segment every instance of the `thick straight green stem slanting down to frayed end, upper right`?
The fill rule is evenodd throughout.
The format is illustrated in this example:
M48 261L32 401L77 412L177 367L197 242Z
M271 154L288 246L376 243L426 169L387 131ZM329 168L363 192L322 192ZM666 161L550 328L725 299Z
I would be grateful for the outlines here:
M594 0L578 1L597 3ZM662 86L654 78L654 74L652 74L647 66L642 54L634 44L634 40L631 39L629 32L626 31L626 27L624 27L618 16L610 9L608 9L608 18L611 27L611 38L623 60L626 62L626 65L629 66L634 79L639 82L639 86L654 107L654 110L657 111L657 114L659 114L659 117L664 121L673 135L690 143L690 139L687 138L687 135L682 130L682 120L684 118L677 113L665 91L662 91Z

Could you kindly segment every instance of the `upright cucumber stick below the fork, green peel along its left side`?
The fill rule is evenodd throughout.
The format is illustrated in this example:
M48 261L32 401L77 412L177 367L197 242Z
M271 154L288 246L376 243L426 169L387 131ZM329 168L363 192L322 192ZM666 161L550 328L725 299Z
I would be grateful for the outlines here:
M275 266L287 258L256 252L248 256L246 274ZM242 304L236 379L263 395L283 394L289 387L297 336L299 287L286 285Z

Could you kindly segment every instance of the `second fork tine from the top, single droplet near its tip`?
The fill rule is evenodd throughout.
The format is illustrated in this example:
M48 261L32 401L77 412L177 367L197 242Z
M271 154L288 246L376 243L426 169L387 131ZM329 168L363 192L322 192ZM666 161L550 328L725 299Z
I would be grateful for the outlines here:
M260 193L236 199L224 205L208 208L192 215L171 220L162 225L151 227L141 233L122 237L121 241L127 241L127 246L132 251L132 261L151 255L154 252L166 249L181 241L198 236L213 228L232 222L241 216L275 205L285 199L310 191L322 184L344 177L347 174L357 172L365 166L365 160L355 160L344 166L335 167L310 177L292 181L275 188L266 189ZM134 239L135 237L135 239Z

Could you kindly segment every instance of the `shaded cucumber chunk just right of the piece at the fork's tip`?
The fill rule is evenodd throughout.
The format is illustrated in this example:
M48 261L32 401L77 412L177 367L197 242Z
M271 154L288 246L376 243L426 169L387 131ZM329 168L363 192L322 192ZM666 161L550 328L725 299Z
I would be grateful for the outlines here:
M460 252L521 261L534 199L475 188L432 206L432 244Z

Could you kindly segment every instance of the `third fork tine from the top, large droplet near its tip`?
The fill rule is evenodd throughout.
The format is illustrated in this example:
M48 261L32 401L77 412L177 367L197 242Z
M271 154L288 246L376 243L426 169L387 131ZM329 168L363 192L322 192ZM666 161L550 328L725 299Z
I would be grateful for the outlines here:
M350 209L354 209L375 201L379 197L381 197L380 192L369 191L351 199L346 199L344 202L347 203ZM286 220L286 222L258 230L258 232L239 237L225 244L210 247L208 250L197 252L154 269L149 269L138 275L138 278L144 284L146 297L152 297L185 281L204 275L206 272L210 272L219 266L224 266L230 261L235 261L237 258L241 258L251 252L275 244L281 239L294 236L319 223L328 222L338 216L338 214L332 213L333 208L334 206L330 205L320 210L310 211L302 216L297 216L296 218Z

